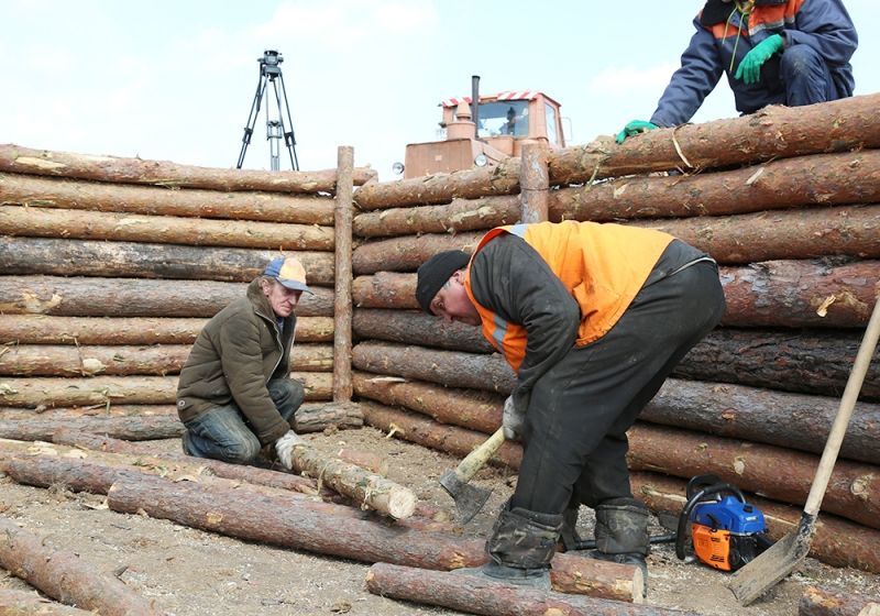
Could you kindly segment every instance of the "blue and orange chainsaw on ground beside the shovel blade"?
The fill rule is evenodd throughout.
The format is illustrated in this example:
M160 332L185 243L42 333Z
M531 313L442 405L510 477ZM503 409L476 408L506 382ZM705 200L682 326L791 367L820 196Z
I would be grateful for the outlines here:
M686 495L675 537L679 559L685 559L689 524L697 560L722 571L740 569L772 544L763 514L717 475L693 477Z

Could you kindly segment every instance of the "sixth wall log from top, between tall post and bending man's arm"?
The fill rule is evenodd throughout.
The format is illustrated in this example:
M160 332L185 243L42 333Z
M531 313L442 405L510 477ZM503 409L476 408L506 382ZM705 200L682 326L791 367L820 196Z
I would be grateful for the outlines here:
M352 365L358 370L429 381L452 387L470 387L509 394L516 376L497 353L477 355L458 351L438 351L391 342L361 342L352 350Z

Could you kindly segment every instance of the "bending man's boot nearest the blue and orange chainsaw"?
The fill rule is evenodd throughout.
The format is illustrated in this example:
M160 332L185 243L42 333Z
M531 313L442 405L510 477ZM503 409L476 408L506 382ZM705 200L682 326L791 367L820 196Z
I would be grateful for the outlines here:
M648 593L648 508L631 497L612 498L596 507L596 550L590 558L631 564L641 570Z

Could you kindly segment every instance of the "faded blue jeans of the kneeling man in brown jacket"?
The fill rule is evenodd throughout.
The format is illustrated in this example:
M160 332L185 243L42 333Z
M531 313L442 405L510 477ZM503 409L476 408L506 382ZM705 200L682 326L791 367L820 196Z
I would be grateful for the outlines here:
M266 388L280 416L289 422L305 399L302 385L289 378L276 378L270 381ZM184 453L196 458L248 464L256 459L262 448L260 439L234 402L213 407L186 421L184 427Z

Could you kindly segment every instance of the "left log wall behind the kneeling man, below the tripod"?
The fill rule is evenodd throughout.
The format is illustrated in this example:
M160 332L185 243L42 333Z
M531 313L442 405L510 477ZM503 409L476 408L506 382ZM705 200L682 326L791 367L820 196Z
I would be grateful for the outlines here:
M204 324L279 255L315 290L297 310L292 376L307 400L331 399L340 177L0 145L0 419L125 405L167 416Z

